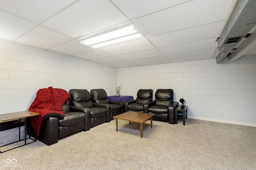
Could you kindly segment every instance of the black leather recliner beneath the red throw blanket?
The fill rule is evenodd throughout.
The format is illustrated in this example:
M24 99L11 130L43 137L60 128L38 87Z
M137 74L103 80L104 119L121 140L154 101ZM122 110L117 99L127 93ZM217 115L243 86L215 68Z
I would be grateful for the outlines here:
M64 119L49 117L44 125L43 136L38 140L46 145L58 143L58 139L79 131L90 130L90 114L85 109L70 106L70 98L64 104ZM34 129L33 129L34 130ZM34 133L32 133L34 134Z

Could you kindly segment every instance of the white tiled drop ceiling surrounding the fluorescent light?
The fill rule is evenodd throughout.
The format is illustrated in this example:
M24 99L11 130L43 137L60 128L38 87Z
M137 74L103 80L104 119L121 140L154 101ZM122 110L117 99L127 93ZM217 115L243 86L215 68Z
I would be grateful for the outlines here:
M116 68L213 58L236 0L1 0L0 38ZM134 23L140 39L93 49L79 37ZM256 54L254 47L249 55Z

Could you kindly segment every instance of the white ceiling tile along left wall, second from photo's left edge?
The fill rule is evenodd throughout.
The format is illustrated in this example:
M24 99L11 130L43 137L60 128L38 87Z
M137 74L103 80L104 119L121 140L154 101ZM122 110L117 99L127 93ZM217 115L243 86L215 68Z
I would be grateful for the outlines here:
M49 49L70 40L72 40L70 37L56 33L45 27L38 26L22 37L16 39L15 42L40 47L43 49Z

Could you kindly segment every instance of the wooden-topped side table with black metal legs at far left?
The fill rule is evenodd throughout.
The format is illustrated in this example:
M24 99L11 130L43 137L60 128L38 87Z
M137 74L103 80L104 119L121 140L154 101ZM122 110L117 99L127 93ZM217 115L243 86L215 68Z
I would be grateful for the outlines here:
M12 120L17 120L17 119L19 120L19 141L14 142L14 143L17 143L17 142L23 141L23 140L20 140L20 120L23 119L24 120L24 126L25 126L24 145L27 145L27 144L36 142L36 116L38 116L38 115L40 115L40 113L36 113L36 112L32 112L32 111L19 111L19 112L13 112L13 113L0 114L0 123L7 122L7 121L12 121ZM29 134L28 139L31 139L32 142L27 143L27 141L26 141L27 140L27 137L26 137L27 136L26 119L27 119L27 117L33 117L33 116L35 116L35 137L34 137L34 139L32 139L31 136L30 136L31 134ZM10 143L10 144L13 144L13 143ZM7 145L10 145L10 144L7 144ZM7 145L3 145L1 147L7 146ZM18 147L22 147L24 145L20 145ZM12 149L15 149L15 148L18 148L18 147L14 147ZM12 149L8 149L8 150L12 150ZM0 150L0 153L6 152L8 150L5 150L5 151Z

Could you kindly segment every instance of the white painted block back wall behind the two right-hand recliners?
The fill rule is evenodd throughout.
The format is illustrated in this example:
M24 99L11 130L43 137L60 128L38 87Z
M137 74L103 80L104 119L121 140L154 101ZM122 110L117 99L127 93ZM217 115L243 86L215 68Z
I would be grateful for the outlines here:
M118 68L117 79L120 94L134 98L139 89L173 89L189 118L256 126L256 56Z

